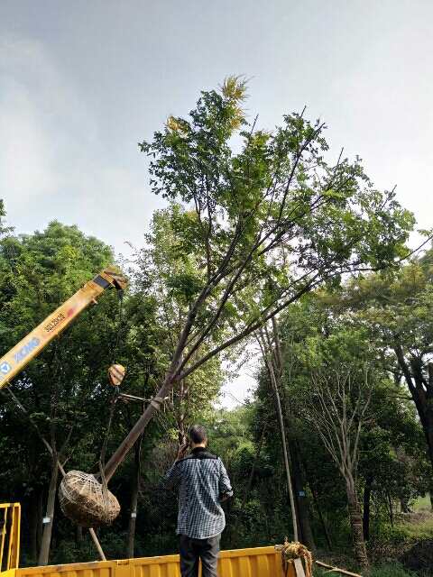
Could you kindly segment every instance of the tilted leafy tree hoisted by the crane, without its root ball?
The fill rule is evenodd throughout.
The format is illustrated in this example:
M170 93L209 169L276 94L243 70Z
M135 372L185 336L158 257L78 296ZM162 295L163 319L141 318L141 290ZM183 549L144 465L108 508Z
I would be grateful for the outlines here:
M202 92L189 120L170 116L140 144L153 192L183 203L173 248L196 256L198 274L161 389L107 463L107 478L174 385L203 363L319 284L406 254L412 215L392 192L372 188L358 159L324 160L324 124L287 114L273 132L261 130L247 123L245 98L245 80L226 78Z

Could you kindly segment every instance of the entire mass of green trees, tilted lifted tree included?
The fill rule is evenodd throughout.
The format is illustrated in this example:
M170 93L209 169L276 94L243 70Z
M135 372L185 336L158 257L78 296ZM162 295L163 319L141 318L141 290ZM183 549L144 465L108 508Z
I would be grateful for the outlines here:
M151 398L165 402L109 481L122 511L98 530L107 557L176 551L177 502L161 479L194 422L235 490L223 547L292 538L293 511L311 548L349 564L361 559L354 546L376 561L414 536L400 511L433 490L433 252L401 264L414 221L394 195L374 190L358 159L328 162L324 125L303 114L272 133L249 125L245 97L244 81L227 78L188 120L170 117L140 145L168 206L124 270L123 305L106 291L14 379L27 414L0 391L0 500L23 503L24 563L38 558L57 484L42 437L67 470L97 471L112 362L126 367L122 389L145 400L115 403L106 459ZM0 354L115 261L76 226L15 235L4 216L2 203ZM253 354L253 339L253 401L217 408L227 360ZM56 501L50 563L96 557ZM395 563L380 571L410 574Z

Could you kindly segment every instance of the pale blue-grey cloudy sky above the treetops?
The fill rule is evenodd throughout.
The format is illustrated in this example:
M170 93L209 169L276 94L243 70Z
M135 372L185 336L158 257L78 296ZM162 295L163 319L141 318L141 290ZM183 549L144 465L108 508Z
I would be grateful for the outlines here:
M7 224L78 224L128 256L164 206L137 143L244 75L259 127L306 106L330 159L359 155L431 228L432 38L431 0L0 0ZM252 386L244 375L224 404Z

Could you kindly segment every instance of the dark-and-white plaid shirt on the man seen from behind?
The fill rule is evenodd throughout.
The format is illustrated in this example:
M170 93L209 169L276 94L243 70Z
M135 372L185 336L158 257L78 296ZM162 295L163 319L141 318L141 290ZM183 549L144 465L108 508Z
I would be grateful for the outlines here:
M219 504L233 490L226 468L219 457L195 447L188 456L174 463L164 475L164 487L179 487L177 533L195 539L208 539L226 527L226 517Z

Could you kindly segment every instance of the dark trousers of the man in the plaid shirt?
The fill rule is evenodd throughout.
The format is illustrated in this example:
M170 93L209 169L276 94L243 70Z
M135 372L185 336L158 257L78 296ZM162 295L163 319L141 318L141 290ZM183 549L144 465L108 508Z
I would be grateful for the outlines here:
M178 535L181 576L198 577L198 559L201 559L201 576L218 577L220 539L221 534L209 539L193 539L186 535Z

